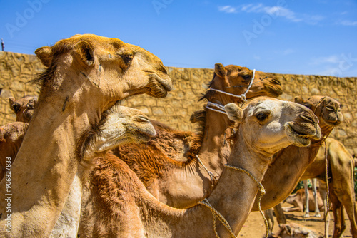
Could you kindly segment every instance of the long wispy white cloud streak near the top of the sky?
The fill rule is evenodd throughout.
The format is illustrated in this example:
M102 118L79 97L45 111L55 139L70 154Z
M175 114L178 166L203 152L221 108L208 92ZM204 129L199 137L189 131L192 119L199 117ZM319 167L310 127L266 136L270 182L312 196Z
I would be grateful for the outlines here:
M219 11L224 11L226 13L238 13L244 11L246 13L263 13L276 17L283 17L288 21L300 22L303 21L306 24L318 24L319 21L323 20L323 16L319 15L308 15L308 14L297 14L290 9L283 6L264 6L261 3L258 4L243 4L241 6L219 6Z

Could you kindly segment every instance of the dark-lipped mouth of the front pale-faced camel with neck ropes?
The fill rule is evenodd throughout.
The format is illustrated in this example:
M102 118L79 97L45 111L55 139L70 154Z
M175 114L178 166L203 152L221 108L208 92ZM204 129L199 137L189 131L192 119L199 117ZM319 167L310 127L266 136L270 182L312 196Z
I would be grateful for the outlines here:
M321 138L321 133L318 130L312 132L311 130L306 130L306 128L294 128L293 123L286 123L284 125L286 135L288 140L296 146L308 146L311 143L311 139L318 140ZM303 130L303 132L301 131Z

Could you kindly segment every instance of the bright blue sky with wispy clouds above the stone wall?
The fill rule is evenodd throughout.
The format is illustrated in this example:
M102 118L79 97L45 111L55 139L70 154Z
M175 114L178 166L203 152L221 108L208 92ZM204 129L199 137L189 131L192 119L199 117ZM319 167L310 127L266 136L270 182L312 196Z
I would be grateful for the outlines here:
M120 38L166 66L236 64L357 76L356 0L0 0L5 51L34 53L76 33Z

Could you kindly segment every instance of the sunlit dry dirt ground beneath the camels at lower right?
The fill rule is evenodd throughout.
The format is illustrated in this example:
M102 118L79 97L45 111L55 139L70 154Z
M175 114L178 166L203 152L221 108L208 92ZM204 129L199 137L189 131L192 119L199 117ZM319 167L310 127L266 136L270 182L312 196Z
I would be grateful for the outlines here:
M283 204L283 207L291 207L289 204ZM289 222L294 222L298 224L302 224L306 227L311 227L322 234L325 234L325 222L323 222L322 218L313 217L313 212L310 213L309 218L303 220L303 212L286 212L286 218ZM329 233L328 237L332 237L333 234L333 214L332 211L330 214L330 224L329 224ZM347 218L347 214L345 212L345 222L346 222L346 230L343 232L343 237L348 238L352 237L350 232L350 222ZM279 230L278 222L276 222L276 217L274 217L274 227L273 232L277 233ZM266 228L264 225L263 217L261 217L260 212L251 212L248 217L248 220L239 232L238 237L246 237L246 238L261 238L266 234Z

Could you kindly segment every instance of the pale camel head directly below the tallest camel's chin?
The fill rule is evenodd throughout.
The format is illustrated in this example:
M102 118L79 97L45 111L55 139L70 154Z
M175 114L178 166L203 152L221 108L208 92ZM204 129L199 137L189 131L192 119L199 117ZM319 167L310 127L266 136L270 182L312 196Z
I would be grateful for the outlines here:
M144 113L116 103L104 112L97 125L84 133L77 146L77 155L91 159L122 144L147 142L154 135L154 126Z

